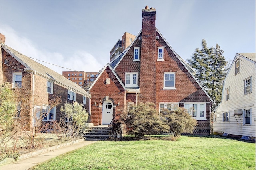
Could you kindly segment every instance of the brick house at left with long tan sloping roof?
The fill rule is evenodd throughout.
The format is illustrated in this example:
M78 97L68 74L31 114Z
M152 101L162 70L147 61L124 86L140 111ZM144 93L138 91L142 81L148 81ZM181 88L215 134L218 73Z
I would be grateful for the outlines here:
M18 51L5 45L5 37L0 34L0 83L10 82L13 88L24 88L31 90L32 102L28 109L21 110L25 117L48 113L42 121L58 121L61 113L60 107L66 102L76 101L83 104L83 107L90 111L90 97L78 84L68 80L61 74L50 68L22 55ZM54 96L61 97L61 103L56 107L50 107L49 100ZM48 110L49 108L52 108ZM29 110L29 113L27 111ZM26 111L26 114L22 112ZM18 117L19 118L19 117ZM24 117L20 117L24 120ZM26 128L31 127L31 119L24 123ZM30 124L29 124L30 123Z

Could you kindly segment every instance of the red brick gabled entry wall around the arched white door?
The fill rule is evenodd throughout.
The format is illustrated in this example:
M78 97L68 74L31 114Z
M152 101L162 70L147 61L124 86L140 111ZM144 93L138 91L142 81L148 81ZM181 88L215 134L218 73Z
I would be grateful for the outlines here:
M106 78L110 78L110 84L105 84ZM92 105L91 105L91 122L94 126L102 124L102 107L99 107L99 104L102 104L102 99L106 96L109 96L116 105L114 108L114 115L118 119L118 115L121 113L122 108L124 107L124 98L125 90L122 85L118 82L118 79L114 76L109 67L102 72L102 75L99 77L97 82L94 84L90 90L92 95ZM95 102L97 105L95 106ZM118 102L120 105L118 106Z

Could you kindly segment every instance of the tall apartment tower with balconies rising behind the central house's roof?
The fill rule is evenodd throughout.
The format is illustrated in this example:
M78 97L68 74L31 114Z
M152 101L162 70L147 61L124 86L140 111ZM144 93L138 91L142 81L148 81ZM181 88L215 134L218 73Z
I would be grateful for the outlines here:
M112 61L115 59L124 49L126 49L132 41L135 39L135 35L132 35L130 33L125 32L124 35L122 36L122 40L118 39L114 47L110 51L110 59L109 61Z

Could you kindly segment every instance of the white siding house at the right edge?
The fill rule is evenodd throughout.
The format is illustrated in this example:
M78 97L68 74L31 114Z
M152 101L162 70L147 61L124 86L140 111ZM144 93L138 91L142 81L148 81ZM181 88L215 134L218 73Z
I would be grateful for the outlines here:
M237 53L213 110L215 134L255 140L255 82L255 53Z

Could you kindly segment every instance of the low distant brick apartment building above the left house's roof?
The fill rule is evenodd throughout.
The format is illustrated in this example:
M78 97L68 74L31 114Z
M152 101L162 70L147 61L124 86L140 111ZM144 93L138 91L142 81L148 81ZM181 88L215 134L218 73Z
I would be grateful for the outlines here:
M98 72L63 71L62 76L82 86L87 82L93 82L98 76Z

